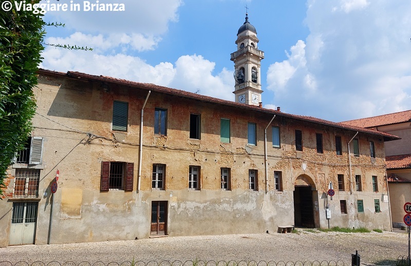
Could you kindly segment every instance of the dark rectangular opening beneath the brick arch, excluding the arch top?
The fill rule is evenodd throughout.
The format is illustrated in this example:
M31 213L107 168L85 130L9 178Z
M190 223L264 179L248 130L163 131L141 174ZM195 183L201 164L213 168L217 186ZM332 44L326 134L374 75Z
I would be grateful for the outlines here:
M314 208L310 186L296 186L294 190L295 226L314 228Z

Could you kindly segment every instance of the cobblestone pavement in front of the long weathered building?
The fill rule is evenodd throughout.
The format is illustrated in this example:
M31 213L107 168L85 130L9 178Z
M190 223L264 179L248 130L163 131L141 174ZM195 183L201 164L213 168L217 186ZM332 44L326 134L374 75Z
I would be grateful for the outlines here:
M67 261L91 264L102 261L330 261L351 265L359 251L362 264L393 264L408 253L408 234L324 233L298 229L288 234L241 234L218 236L161 237L151 239L12 246L0 249L0 261ZM1 265L5 265L0 263Z

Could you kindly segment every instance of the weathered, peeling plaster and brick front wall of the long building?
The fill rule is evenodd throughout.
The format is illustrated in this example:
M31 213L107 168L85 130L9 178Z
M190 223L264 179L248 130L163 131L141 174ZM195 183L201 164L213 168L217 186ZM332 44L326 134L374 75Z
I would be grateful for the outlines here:
M352 156L351 150L352 177L361 175L363 186L363 192L351 194L346 143L355 132L278 115L271 125L280 128L280 148L272 147L271 127L267 130L266 194L264 128L270 116L152 92L144 109L141 191L137 193L140 113L147 91L116 84L105 91L99 83L41 75L34 92L38 115L33 136L44 138L36 244L47 243L49 187L57 169L51 243L147 238L152 201L167 201L171 236L276 232L278 225L294 224L295 185L312 187L317 202L312 210L315 226L328 227L325 193L330 181L336 190L332 200L328 197L331 226L390 228L388 203L382 201L384 143L376 136L358 135L360 157ZM127 131L111 130L114 100L128 102ZM156 107L167 110L167 136L154 134ZM190 113L200 114L199 140L189 138ZM221 118L230 119L230 143L220 142ZM255 146L247 144L248 123L257 125ZM303 131L302 152L295 150L295 129ZM323 134L323 154L316 152L316 133ZM335 155L336 135L342 137L341 156ZM376 159L369 157L369 141L375 142ZM133 162L133 191L100 192L102 161ZM165 165L162 191L152 191L153 164ZM190 165L200 167L199 191L188 189ZM221 191L221 167L231 170L229 191ZM249 169L257 170L256 191L249 190ZM282 191L274 191L274 171L282 172ZM11 197L14 168L9 174L6 192ZM345 191L338 191L338 174L344 175ZM371 192L371 176L378 177L379 192ZM42 196L43 191L47 196ZM341 214L341 199L347 201L347 214ZM357 212L357 199L364 200L363 214ZM381 200L381 213L372 211L373 199ZM6 236L1 246L8 245L11 206L11 201L0 201L0 232Z

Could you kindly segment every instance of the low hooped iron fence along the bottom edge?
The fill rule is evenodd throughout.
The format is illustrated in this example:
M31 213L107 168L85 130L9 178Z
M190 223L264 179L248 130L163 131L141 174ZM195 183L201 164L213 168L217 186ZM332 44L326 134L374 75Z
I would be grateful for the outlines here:
M398 264L397 264L398 265ZM345 266L344 261L342 260L330 260L330 261L245 261L245 260L240 260L240 261L235 261L235 260L209 260L209 261L204 261L204 260L186 260L186 261L180 261L180 260L175 260L175 261L168 261L168 260L163 260L163 261L155 261L151 260L148 262L145 261L124 261L124 262L108 262L104 263L102 261L98 262L88 262L88 261L82 261L82 262L73 262L73 261L67 261L67 262L58 262L58 261L50 261L50 262L42 262L42 261L34 261L32 263L29 263L27 261L18 261L15 263L12 263L10 261L0 261L0 266ZM401 266L405 266L401 264Z

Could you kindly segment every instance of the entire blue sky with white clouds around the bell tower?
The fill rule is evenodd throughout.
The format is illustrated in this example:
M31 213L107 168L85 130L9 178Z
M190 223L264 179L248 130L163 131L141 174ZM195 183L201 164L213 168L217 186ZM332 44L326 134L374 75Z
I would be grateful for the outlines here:
M84 5L83 0L73 3ZM89 1L96 3L96 1ZM60 0L60 3L70 3ZM100 0L125 11L49 11L42 68L234 101L238 28L257 30L263 106L334 122L411 109L408 0Z

